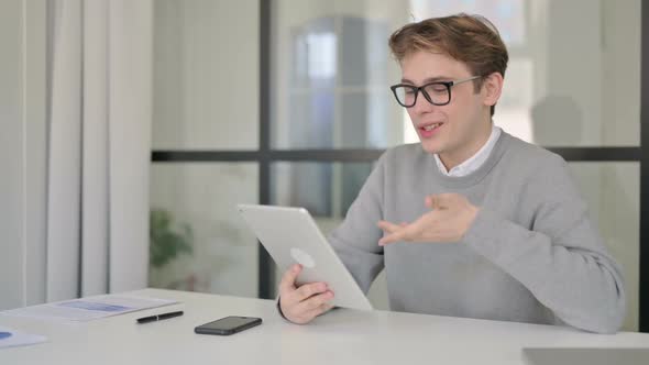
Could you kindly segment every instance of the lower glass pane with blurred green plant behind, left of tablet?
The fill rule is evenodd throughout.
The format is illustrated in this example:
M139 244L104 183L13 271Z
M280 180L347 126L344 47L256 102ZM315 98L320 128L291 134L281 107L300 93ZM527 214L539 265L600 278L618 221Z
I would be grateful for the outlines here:
M153 164L150 285L257 297L257 241L235 209L257 193L255 163Z

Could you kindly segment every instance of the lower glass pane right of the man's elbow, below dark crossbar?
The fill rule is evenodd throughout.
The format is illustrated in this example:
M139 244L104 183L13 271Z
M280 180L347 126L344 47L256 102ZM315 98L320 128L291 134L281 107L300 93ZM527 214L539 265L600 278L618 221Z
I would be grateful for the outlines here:
M628 301L624 329L637 331L640 164L570 163L570 167L610 255L623 268Z

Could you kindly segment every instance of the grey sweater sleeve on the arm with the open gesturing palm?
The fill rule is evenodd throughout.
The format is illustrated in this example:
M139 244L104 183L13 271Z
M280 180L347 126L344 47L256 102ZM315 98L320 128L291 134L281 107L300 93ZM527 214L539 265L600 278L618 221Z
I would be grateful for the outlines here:
M561 321L614 333L625 318L623 275L588 219L568 164L560 159L551 165L542 172L546 178L537 176L525 191L537 201L531 228L481 208L463 241L520 281Z

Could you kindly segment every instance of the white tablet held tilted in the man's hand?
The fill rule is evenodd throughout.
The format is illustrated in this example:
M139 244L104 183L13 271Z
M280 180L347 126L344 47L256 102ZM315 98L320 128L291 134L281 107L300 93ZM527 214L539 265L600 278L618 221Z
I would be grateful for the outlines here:
M324 281L334 292L334 306L372 309L370 300L306 209L252 204L237 207L282 273L299 263L304 269L297 278L298 285Z

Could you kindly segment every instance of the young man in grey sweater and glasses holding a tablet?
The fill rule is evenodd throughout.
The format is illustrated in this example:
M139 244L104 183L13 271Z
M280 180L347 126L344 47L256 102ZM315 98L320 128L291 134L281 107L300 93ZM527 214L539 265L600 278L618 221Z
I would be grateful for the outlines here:
M558 155L493 125L507 49L485 19L413 23L389 46L392 87L420 144L387 151L330 242L363 290L386 269L393 310L612 333L625 316L620 270ZM324 283L283 277L295 323L330 309Z

